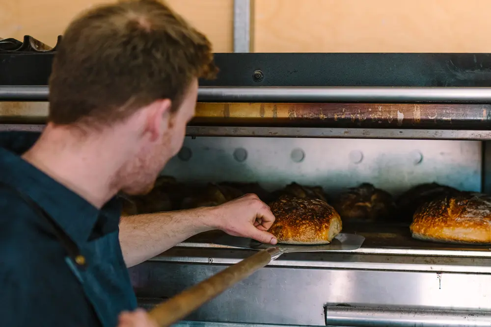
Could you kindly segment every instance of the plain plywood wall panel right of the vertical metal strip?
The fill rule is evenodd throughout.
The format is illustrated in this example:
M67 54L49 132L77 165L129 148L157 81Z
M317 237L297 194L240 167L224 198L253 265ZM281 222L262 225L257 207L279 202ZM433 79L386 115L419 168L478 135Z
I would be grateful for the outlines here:
M491 52L490 0L254 0L255 52Z

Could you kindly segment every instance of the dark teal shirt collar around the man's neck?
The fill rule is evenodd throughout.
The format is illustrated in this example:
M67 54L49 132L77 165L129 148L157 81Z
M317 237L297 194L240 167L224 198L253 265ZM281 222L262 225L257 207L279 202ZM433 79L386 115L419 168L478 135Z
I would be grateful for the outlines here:
M117 228L117 199L112 199L99 210L19 156L32 146L38 135L0 132L0 179L41 206L76 243L89 239L100 215L112 227L116 224ZM108 226L103 229L108 229Z

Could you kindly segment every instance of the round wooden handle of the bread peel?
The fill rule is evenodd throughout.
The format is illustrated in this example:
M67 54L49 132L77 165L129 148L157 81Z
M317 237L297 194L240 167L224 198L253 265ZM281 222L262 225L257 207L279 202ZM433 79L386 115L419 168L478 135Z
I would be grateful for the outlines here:
M249 277L280 254L277 248L262 250L230 266L217 275L188 288L182 293L158 304L150 312L161 327L171 326L182 320L202 304L214 299L220 293L242 279Z

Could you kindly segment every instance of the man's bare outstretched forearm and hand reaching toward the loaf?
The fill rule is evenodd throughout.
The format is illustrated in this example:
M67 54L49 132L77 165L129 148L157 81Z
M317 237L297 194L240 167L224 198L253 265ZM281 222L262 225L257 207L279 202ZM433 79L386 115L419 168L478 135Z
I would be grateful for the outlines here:
M216 207L122 217L119 243L126 266L131 267L192 235L213 229L276 244L267 232L273 222L270 208L256 195L248 194Z

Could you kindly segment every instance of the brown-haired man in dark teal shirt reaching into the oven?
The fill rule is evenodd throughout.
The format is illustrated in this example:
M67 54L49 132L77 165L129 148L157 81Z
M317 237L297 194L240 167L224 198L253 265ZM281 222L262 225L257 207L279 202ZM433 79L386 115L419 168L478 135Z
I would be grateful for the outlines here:
M254 195L118 226L116 194L153 187L182 146L198 78L215 71L209 41L157 0L69 25L45 130L0 135L0 326L113 327L123 311L121 326L147 324L125 264L211 229L276 243L273 214Z

